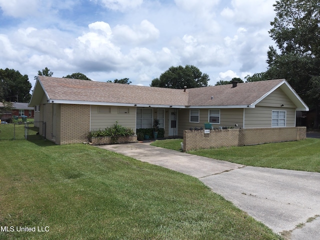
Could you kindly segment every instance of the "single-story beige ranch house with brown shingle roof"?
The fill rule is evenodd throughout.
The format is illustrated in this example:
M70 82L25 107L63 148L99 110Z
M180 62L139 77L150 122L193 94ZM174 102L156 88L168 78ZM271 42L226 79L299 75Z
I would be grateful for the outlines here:
M211 122L214 127L292 127L307 105L285 79L171 89L38 76L29 106L39 133L56 144L83 142L116 121L134 131L160 120L165 137Z

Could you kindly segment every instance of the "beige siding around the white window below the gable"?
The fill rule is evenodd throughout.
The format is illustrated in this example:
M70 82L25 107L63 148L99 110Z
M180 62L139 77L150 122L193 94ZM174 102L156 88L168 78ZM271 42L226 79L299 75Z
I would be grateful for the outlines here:
M285 126L295 126L295 108L256 106L244 109L244 128L271 127L272 110L286 111Z

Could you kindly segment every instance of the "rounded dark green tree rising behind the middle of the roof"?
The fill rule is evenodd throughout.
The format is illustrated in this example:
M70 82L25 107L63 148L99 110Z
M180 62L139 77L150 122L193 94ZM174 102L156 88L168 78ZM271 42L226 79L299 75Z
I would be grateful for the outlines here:
M202 74L199 68L193 65L185 65L185 67L179 65L170 66L159 78L154 78L150 86L178 89L183 89L184 86L193 88L207 86L209 80L209 75Z

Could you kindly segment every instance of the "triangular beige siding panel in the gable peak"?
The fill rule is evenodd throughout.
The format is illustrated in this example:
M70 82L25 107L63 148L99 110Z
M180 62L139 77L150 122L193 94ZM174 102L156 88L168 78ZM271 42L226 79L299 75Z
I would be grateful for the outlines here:
M281 106L281 104L283 104L283 107L296 108L296 106L287 97L287 95L280 88L277 88L269 95L267 95L263 100L258 102L256 106L279 107Z

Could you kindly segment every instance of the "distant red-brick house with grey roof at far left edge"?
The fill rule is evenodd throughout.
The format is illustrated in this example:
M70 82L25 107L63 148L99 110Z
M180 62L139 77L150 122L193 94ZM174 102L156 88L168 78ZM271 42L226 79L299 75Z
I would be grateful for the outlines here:
M3 112L1 115L1 120L10 122L13 116L27 116L29 118L34 117L34 109L33 107L28 106L28 103L25 102L11 102L12 109L10 112ZM3 107L1 102L0 107Z

